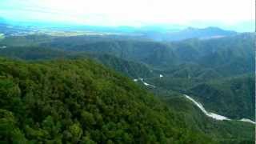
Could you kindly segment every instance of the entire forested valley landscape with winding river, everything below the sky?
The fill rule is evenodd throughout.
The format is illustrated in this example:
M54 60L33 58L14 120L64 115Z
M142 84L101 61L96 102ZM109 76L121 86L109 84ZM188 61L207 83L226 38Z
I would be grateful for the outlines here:
M254 143L255 33L106 31L2 38L1 142Z

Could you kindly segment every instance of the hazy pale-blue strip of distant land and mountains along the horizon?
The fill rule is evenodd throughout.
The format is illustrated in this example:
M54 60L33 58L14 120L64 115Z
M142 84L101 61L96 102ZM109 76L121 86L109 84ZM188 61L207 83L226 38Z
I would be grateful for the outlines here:
M62 23L52 22L14 22L6 21L0 18L0 33L15 34L21 32L30 32L36 30L54 30L54 31L79 31L93 34L112 34L112 35L128 35L138 36L139 38L154 41L180 41L188 38L222 38L230 35L238 34L231 30L222 30L218 27L194 28L179 25L161 25L161 26L78 26L66 25ZM10 26L11 29L10 29ZM16 31L14 31L17 29ZM10 33L9 33L10 32Z

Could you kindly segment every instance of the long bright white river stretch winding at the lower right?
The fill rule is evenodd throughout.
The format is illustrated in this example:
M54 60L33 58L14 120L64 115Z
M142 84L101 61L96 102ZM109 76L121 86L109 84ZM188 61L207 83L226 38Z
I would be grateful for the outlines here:
M198 108L199 108L200 110L202 110L202 112L203 112L204 114L206 114L208 117L214 118L214 119L220 120L220 121L222 121L222 120L227 120L227 121L232 120L232 119L227 118L227 117L222 116L222 115L218 115L218 114L214 114L214 113L207 112L206 109L202 106L201 103L196 102L193 98L191 98L190 96L188 96L188 95L186 95L186 94L184 94L184 96L185 96L186 98L188 98L190 101L194 102L194 104L195 104L196 106L198 106ZM246 118L242 118L242 119L240 119L240 120L238 120L238 121L250 122L250 123L252 123L252 124L256 124L256 122L254 122L254 121L252 121L252 120L250 120L250 119L246 119Z

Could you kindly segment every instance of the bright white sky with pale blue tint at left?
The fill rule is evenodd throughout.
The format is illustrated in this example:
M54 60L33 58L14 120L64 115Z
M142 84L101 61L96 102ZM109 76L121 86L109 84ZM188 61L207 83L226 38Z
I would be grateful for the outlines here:
M254 26L254 0L0 0L0 17L97 26Z

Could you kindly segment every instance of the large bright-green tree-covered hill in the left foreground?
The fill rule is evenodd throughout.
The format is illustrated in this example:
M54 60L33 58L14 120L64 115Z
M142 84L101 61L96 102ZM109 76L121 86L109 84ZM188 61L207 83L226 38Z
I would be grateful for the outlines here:
M152 94L89 60L0 59L0 141L211 143Z

